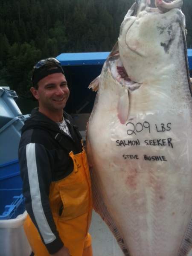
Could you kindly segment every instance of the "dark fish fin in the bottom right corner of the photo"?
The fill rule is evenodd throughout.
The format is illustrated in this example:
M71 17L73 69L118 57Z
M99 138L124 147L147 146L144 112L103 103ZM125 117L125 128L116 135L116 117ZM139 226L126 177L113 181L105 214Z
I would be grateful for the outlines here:
M178 256L188 256L190 252L192 252L192 220L187 227Z

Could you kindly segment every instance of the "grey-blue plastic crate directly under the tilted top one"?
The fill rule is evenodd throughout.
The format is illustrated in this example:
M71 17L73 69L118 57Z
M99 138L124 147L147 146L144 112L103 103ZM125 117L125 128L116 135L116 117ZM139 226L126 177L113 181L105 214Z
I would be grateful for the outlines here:
M0 128L0 164L18 159L21 128L30 115L16 116Z

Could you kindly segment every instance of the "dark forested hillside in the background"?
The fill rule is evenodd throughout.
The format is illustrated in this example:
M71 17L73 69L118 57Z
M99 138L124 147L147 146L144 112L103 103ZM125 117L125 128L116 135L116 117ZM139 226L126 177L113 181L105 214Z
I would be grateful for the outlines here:
M0 0L0 86L27 97L41 58L110 51L134 0ZM192 0L183 0L192 48Z

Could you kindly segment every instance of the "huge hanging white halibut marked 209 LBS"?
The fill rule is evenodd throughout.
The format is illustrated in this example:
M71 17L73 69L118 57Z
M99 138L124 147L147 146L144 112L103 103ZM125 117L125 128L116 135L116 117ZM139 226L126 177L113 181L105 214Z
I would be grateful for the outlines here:
M170 2L170 1L169 1ZM192 247L192 94L181 1L137 0L90 87L94 207L127 256Z

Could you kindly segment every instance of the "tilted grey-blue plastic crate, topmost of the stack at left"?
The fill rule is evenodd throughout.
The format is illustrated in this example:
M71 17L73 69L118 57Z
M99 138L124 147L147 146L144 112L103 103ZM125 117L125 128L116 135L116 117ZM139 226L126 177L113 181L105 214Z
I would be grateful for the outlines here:
M14 90L0 87L0 128L15 116L22 115L15 102L17 98L17 93Z

